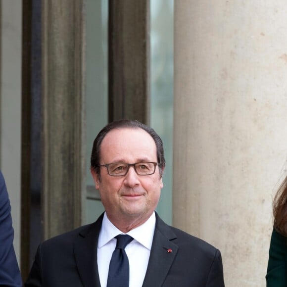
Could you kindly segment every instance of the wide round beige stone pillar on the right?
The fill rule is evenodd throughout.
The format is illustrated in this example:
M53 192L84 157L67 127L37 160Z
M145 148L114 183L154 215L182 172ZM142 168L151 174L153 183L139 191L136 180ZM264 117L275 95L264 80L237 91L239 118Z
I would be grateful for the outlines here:
M287 159L286 2L175 1L173 224L265 286Z

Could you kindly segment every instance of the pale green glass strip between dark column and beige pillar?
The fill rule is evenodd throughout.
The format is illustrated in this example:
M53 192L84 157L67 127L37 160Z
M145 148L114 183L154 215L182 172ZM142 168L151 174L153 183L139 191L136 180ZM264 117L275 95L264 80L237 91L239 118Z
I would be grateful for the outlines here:
M157 212L172 223L173 0L151 0L151 126L163 140L166 169Z

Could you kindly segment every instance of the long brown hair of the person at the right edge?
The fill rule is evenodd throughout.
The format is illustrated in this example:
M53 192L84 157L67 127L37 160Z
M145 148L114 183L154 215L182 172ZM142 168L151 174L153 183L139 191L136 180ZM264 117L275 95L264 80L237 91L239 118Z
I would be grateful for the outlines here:
M273 215L275 230L287 237L287 177L274 197Z

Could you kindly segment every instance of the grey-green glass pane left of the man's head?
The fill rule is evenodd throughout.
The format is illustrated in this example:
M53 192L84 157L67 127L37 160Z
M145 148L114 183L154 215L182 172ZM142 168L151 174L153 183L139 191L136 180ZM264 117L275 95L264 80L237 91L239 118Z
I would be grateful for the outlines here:
M94 139L107 124L107 20L108 0L87 0L87 52L86 52L86 161L87 194L97 196L90 173L90 157ZM94 222L103 212L99 200L87 198L86 222Z

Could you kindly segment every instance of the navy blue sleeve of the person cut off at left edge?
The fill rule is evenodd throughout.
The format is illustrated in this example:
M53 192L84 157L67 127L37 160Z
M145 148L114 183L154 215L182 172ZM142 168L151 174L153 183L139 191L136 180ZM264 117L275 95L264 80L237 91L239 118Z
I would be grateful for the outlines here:
M2 173L0 172L0 286L22 286L19 266L13 247L11 206Z

